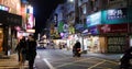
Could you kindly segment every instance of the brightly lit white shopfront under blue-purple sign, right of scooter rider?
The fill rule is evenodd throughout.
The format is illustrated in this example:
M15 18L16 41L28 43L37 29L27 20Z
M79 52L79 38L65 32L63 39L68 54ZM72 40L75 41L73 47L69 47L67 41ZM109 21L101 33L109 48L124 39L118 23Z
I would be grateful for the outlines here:
M88 53L100 53L102 48L100 48L101 43L98 26L90 26L88 33L89 34L85 37L87 42L84 39L84 44L87 43Z

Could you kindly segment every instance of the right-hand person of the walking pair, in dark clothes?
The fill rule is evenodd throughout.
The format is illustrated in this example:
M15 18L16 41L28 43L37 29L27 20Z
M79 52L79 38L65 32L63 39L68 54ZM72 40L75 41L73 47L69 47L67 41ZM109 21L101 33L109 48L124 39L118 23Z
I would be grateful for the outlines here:
M29 46L29 69L33 69L35 56L36 56L36 41L34 39L33 35L29 36L28 39L28 46Z

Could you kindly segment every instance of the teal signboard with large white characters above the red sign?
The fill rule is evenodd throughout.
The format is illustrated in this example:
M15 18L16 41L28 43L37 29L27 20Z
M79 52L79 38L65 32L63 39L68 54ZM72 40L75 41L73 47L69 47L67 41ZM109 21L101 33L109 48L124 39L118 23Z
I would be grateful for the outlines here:
M110 9L102 11L102 24L121 24L128 22L127 9Z

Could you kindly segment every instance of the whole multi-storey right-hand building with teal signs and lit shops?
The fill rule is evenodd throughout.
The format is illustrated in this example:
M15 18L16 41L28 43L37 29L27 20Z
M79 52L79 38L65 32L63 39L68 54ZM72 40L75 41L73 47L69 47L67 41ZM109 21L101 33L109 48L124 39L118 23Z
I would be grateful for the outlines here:
M65 20L68 25L67 46L72 48L75 41L79 39L82 50L123 53L132 46L132 3L130 2L131 0L65 2L64 8L67 10Z

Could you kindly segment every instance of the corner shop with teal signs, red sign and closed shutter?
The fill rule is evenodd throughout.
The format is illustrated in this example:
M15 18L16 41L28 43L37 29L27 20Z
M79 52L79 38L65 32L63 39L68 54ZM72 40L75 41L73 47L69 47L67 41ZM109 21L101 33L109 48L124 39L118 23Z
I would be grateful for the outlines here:
M102 10L87 16L89 33L99 41L98 53L123 53L129 47L127 14L127 8L121 8Z

